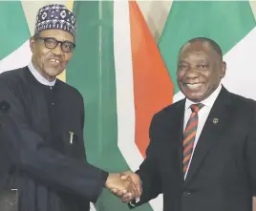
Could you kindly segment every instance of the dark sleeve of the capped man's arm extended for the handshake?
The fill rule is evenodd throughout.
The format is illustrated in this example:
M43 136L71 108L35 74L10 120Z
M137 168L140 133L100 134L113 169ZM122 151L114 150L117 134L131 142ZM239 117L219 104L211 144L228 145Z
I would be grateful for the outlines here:
M11 163L32 179L96 202L108 173L85 160L67 158L51 149L43 137L32 130L18 98L0 84L0 102L10 104L0 119L0 139Z

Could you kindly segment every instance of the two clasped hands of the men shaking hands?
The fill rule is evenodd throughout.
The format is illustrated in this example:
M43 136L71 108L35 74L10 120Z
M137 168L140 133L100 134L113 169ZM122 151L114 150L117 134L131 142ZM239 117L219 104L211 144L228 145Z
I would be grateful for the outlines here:
M109 174L105 187L124 203L137 200L141 194L139 175L131 171Z

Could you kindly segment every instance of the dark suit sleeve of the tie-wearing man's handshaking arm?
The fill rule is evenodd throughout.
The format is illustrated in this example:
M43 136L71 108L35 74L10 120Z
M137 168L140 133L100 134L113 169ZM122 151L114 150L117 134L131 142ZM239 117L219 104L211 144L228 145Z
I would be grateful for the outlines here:
M146 158L143 160L139 166L139 170L136 172L139 175L139 178L142 183L142 194L139 198L139 202L132 201L135 206L139 206L149 200L155 199L161 193L161 180L159 173L159 161L158 156L159 144L159 127L160 124L157 120L157 115L155 115L151 121L149 129L150 143L146 150ZM135 206L129 205L130 208Z

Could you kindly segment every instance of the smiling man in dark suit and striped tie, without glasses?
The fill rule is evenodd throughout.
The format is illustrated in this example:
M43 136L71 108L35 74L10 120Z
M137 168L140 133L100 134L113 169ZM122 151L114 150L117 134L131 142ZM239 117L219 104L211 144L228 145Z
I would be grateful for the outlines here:
M210 39L195 38L181 48L177 79L185 98L153 116L146 158L137 174L123 173L142 183L131 207L162 193L164 211L252 210L256 103L224 88L225 69Z

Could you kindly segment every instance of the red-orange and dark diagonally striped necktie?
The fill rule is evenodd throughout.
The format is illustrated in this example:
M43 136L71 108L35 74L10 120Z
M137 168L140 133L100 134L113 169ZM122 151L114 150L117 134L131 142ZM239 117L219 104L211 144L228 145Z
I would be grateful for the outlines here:
M193 104L190 106L192 114L189 117L183 134L183 173L186 173L189 160L193 152L194 141L197 134L199 116L198 112L203 108L203 104Z

